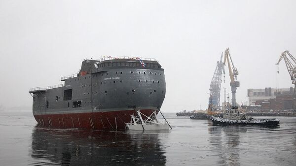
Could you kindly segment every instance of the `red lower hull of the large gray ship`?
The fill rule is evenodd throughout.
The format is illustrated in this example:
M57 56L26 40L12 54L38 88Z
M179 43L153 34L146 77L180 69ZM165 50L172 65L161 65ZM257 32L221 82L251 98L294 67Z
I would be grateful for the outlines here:
M141 113L149 116L153 111L154 110L151 109L144 109L141 110ZM34 117L38 125L44 127L124 131L126 127L125 123L131 121L130 115L132 114L136 115L136 111L123 110L93 113L47 114L34 115Z

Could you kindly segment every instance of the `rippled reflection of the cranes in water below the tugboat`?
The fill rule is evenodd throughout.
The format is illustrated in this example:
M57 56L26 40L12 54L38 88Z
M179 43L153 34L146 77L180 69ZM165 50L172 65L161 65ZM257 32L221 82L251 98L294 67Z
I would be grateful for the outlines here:
M211 151L219 157L220 166L240 166L240 134L246 133L247 128L239 126L217 127L209 126L209 142Z

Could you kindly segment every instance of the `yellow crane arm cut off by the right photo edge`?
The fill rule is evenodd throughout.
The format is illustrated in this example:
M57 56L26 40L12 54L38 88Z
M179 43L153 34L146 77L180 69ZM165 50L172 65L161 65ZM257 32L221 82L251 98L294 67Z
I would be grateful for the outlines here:
M291 60L289 60L288 56L291 58ZM278 63L276 63L275 65L279 65L279 63L281 62L281 60L284 59L288 72L290 74L291 80L292 80L292 84L294 84L294 99L295 99L295 88L296 88L296 59L289 53L289 51L284 51L282 52L280 59L278 61ZM279 70L277 71L279 73Z

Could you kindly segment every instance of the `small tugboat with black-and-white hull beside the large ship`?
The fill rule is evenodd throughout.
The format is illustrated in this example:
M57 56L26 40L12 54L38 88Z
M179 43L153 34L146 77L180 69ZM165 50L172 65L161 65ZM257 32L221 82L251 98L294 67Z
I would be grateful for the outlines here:
M245 113L241 113L237 109L229 109L223 114L222 117L212 116L211 120L213 125L226 126L226 125L258 125L258 126L277 126L280 123L280 120L277 118L268 118L268 119L254 119L249 118Z

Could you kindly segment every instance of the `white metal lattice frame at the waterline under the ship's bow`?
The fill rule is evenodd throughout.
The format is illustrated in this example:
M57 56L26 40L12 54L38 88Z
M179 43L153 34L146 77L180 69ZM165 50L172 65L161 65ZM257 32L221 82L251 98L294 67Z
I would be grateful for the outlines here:
M127 130L137 130L137 131L169 130L171 128L169 122L166 121L165 118L164 118L165 121L159 122L159 120L157 119L157 114L155 110L152 112L150 116L146 116L145 114L141 113L140 110L136 110L136 112L137 112L136 116L134 114L130 115L131 122L125 123ZM144 120L143 120L143 117L144 117Z

